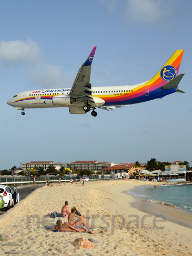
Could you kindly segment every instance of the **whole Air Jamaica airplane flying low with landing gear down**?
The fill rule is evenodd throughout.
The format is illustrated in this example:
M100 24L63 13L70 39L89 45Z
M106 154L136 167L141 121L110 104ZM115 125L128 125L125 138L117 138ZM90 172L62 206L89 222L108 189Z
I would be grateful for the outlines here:
M178 75L184 50L176 50L157 74L149 81L134 86L91 87L91 64L96 51L92 49L88 58L80 66L72 88L30 90L14 95L8 105L21 110L25 108L69 107L70 114L86 114L96 117L96 108L109 111L149 100L162 98L179 92L178 84L184 74Z

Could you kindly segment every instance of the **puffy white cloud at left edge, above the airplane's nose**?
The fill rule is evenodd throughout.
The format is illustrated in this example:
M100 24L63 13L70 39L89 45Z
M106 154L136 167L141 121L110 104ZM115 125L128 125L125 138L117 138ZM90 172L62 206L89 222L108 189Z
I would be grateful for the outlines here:
M5 65L32 64L39 54L39 45L32 40L0 42L0 61Z

